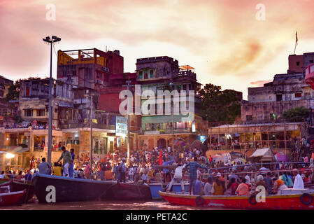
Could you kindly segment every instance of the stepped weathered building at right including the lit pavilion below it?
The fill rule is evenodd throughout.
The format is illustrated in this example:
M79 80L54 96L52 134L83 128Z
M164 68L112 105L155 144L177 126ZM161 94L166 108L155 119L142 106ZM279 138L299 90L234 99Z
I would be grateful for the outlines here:
M313 60L314 52L289 55L287 73L276 74L263 87L249 87L248 100L241 104L242 124L208 129L210 149L216 150L208 155L238 150L249 156L257 148L271 148L288 158L292 153L300 156L300 141L308 136L308 124L285 120L283 112L299 106L313 108L314 90L304 80L304 70Z

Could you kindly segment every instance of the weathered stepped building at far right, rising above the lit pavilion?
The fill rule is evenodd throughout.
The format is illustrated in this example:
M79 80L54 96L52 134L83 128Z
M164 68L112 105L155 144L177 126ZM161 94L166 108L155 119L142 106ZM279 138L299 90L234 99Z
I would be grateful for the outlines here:
M310 109L314 92L305 83L304 68L313 60L314 52L290 55L287 73L275 75L263 87L249 87L248 101L241 106L241 120L255 123L282 120L288 109L298 106Z

